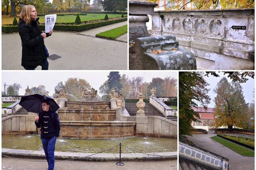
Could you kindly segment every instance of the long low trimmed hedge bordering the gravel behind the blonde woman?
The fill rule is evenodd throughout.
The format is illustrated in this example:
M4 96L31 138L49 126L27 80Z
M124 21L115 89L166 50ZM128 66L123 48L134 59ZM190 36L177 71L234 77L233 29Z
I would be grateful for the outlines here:
M109 20L109 21L101 21L101 22L97 22L97 23L80 24L80 25L57 25L55 23L54 30L79 32L79 31L85 31L85 30L92 29L92 28L102 27L105 25L119 23L122 21L127 21L127 18ZM39 27L41 30L44 30L44 25L39 25ZM3 33L19 32L19 28L18 28L18 26L2 25L2 32Z

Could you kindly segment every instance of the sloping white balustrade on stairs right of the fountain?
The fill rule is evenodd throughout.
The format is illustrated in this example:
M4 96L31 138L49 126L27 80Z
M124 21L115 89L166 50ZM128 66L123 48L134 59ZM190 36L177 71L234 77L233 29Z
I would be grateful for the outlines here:
M156 107L165 117L175 116L176 110L161 102L157 97L150 96L149 103Z

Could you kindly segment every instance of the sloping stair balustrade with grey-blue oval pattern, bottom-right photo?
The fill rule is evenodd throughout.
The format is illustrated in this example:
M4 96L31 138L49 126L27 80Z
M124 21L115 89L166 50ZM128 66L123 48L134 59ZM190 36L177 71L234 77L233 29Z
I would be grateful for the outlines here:
M228 170L228 159L179 140L179 156L199 162L212 169Z

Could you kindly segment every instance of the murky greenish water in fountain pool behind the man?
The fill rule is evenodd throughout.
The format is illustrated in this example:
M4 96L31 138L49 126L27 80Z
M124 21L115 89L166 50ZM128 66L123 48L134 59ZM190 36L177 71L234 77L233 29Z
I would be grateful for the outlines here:
M122 143L122 153L158 153L177 151L177 139L159 137L132 137L126 139L87 140L57 138L55 151L74 153L119 153L119 147L110 149ZM42 142L38 135L2 135L2 148L42 151ZM135 151L130 150L134 149Z

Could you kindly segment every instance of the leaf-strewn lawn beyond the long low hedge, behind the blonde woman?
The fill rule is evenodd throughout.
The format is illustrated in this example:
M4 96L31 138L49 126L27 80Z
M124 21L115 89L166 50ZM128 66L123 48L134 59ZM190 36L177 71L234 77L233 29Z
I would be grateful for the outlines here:
M76 13L74 13L76 14ZM82 22L84 21L91 21L97 19L104 19L106 14L87 14L87 15L80 15L80 19ZM122 14L108 14L108 18L112 17L121 17ZM127 15L124 15L127 16ZM13 18L7 15L2 15L2 25L3 24L13 24ZM39 16L39 22L44 23L44 16ZM17 21L19 22L19 16L16 17ZM74 15L66 15L66 16L57 16L56 23L74 23L76 20L76 16Z

